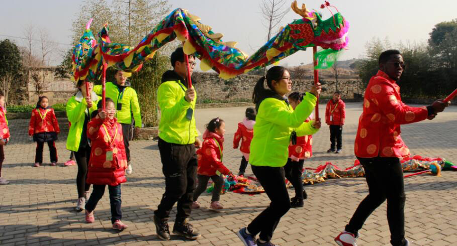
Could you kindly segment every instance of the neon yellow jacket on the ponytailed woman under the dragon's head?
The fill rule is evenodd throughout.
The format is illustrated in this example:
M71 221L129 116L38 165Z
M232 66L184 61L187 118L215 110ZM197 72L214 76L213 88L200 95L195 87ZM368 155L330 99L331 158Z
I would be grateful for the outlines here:
M294 111L284 100L264 99L255 117L249 163L268 167L286 165L292 132L295 130L300 137L319 131L311 126L314 120L304 122L313 111L316 100L313 94L306 93Z

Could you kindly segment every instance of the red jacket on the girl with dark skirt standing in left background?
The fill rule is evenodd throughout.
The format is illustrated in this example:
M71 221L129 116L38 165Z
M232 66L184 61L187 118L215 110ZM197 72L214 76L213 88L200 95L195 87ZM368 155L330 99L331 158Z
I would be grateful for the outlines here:
M29 135L38 133L60 133L59 123L53 108L35 108L29 124Z

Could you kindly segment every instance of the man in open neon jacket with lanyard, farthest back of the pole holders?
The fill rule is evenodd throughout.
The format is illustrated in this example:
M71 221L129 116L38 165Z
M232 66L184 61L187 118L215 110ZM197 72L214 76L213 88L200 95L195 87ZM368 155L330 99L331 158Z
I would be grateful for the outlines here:
M127 162L129 163L127 174L131 174L133 171L132 164L130 163L130 149L129 149L129 136L130 136L130 125L132 124L132 114L135 119L135 131L141 128L141 113L140 104L138 103L138 96L135 89L126 85L127 73L122 70L116 72L116 82L106 83L106 97L113 99L116 105L116 118L121 123L122 135L124 136L125 153L127 155ZM98 95L102 95L102 86L94 86L94 92Z

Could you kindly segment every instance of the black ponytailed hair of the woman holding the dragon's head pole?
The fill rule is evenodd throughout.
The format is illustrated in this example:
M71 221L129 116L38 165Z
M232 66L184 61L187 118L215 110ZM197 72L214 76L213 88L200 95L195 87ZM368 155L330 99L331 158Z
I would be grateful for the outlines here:
M286 71L287 69L282 66L274 66L268 69L266 76L261 77L254 86L254 92L252 92L252 100L255 104L259 104L263 99L277 94L271 82L273 80L279 81ZM268 89L263 86L265 79Z

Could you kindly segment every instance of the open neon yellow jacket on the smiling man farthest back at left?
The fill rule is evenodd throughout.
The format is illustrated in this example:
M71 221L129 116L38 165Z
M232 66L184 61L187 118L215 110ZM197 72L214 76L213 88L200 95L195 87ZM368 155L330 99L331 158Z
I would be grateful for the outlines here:
M102 95L102 85L94 86L94 92L97 93L97 95ZM106 97L113 99L115 107L118 102L122 104L121 110L118 110L116 113L116 118L119 123L131 124L133 113L135 127L141 127L140 104L138 103L138 96L135 89L127 86L125 87L124 92L121 92L116 84L107 82Z

